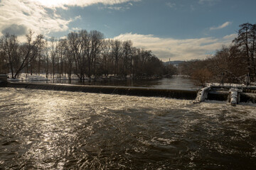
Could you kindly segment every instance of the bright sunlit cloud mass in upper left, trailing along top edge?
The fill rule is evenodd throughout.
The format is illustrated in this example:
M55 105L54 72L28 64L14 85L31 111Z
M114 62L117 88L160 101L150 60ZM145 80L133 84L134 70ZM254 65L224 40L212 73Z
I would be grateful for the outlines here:
M70 30L69 24L81 19L81 16L63 18L57 13L58 8L68 10L69 6L111 6L134 1L140 0L0 0L0 36L6 32L23 35L28 29L47 36ZM114 7L112 9L119 10Z

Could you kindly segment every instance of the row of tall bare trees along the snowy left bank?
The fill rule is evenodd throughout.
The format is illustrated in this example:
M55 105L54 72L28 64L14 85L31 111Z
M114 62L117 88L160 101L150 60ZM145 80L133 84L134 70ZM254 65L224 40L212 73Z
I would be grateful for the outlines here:
M11 72L16 79L21 73L46 77L71 77L80 80L102 77L162 77L176 74L176 67L164 65L150 50L133 47L132 41L105 39L97 30L71 32L65 39L33 36L30 30L26 42L16 35L0 38L0 74Z

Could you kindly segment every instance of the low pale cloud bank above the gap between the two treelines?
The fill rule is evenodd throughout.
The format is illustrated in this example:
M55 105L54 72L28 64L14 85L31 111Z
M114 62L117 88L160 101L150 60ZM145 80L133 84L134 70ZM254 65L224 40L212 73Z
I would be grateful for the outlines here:
M224 38L193 38L178 40L174 38L157 38L154 35L125 33L114 39L132 40L135 47L151 50L163 61L204 59L214 54L223 45L230 45L232 40Z

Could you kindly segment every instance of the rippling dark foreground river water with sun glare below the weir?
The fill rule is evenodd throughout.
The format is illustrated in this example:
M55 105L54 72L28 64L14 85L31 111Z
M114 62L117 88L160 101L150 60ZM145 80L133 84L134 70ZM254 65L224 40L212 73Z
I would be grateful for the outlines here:
M0 89L0 169L255 169L255 104Z

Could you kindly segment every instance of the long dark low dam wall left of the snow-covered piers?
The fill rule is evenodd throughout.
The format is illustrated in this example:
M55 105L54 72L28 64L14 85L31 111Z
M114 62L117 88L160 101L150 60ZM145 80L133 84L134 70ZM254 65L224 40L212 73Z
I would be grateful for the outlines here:
M194 100L197 91L176 90L176 89L153 89L144 87L126 87L126 86L85 86L72 84L28 84L28 83L8 83L8 87L43 89L55 91L81 91L86 93L100 94L120 94L129 96L152 96Z

